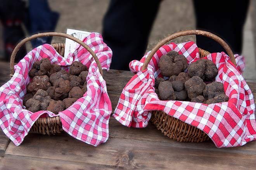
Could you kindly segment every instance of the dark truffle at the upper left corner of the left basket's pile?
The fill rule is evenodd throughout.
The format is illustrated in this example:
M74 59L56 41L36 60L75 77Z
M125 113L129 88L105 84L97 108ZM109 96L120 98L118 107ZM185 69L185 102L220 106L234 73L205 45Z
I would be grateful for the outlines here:
M28 75L33 78L34 76L42 76L50 69L51 63L48 58L43 58L33 63L33 68L29 71Z

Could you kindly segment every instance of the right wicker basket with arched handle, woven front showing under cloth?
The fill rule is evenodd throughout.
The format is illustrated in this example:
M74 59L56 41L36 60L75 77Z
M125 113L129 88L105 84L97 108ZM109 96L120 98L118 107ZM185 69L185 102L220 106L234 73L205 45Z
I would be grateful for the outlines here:
M235 64L235 57L228 46L228 44L223 41L220 37L206 31L200 31L200 30L188 30L188 31L182 31L177 32L175 34L172 34L171 36L166 37L162 41L160 41L149 53L149 56L146 58L144 65L142 66L142 70L145 70L147 68L147 65L149 64L150 59L153 57L153 55L156 53L156 51L166 44L168 41L171 41L172 39L180 36L186 36L186 35L201 35L209 37L216 42L220 43L221 46L227 51L228 56L230 56L230 60L232 63ZM199 48L199 56L200 58L203 58L210 54L208 51L205 51L201 48ZM202 142L209 140L209 136L201 131L200 129L187 124L179 119L176 119L175 117L171 117L168 114L166 114L163 111L154 110L152 111L152 116L150 121L157 127L158 130L161 130L161 132L168 136L171 139L175 139L180 142Z

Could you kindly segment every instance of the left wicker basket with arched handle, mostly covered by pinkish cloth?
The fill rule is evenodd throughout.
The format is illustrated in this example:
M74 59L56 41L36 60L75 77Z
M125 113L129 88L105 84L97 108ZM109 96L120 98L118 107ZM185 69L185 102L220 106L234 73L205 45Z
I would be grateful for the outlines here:
M29 36L25 39L23 39L17 46L14 48L11 58L10 58L10 76L12 77L14 74L14 59L21 48L22 45L24 45L26 42L30 41L31 39L35 39L38 37L47 37L47 36L58 36L58 37L65 37L69 38L86 48L90 54L92 54L93 58L95 59L97 66L99 68L100 74L103 75L102 67L100 65L100 61L95 55L95 53L92 51L90 47L88 47L84 42L80 41L79 39L70 36L68 34L60 33L60 32L44 32L44 33L39 33L35 34L33 36ZM57 43L57 44L52 44L52 46L56 49L56 51L61 55L64 56L65 52L65 43ZM61 133L63 131L62 129L62 123L61 119L59 116L56 117L42 117L36 120L36 122L33 124L32 128L30 129L29 133L40 133L40 134L57 134Z

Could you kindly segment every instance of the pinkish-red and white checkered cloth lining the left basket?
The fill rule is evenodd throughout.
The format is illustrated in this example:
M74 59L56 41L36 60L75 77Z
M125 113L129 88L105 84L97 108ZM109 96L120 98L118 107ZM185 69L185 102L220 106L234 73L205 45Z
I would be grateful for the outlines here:
M112 51L103 42L99 33L91 33L83 40L97 55L102 68L109 70ZM31 81L29 70L35 61L50 59L51 63L68 70L73 61L81 61L88 68L87 92L68 109L58 115L50 111L30 112L22 105L26 85ZM0 126L3 132L19 146L35 121L42 114L50 117L60 116L62 128L76 139L93 146L107 141L109 137L109 117L112 111L107 94L106 82L100 75L92 55L81 45L76 51L63 58L49 44L30 51L16 66L11 80L0 87Z

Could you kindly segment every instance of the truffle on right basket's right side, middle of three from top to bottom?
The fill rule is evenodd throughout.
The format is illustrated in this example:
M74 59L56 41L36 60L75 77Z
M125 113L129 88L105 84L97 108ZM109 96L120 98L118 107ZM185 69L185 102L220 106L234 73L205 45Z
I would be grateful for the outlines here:
M221 82L212 82L204 88L204 98L206 100L213 99L215 96L225 94L224 87Z

